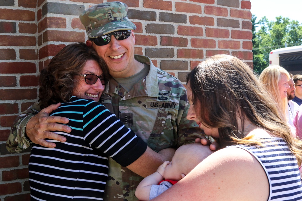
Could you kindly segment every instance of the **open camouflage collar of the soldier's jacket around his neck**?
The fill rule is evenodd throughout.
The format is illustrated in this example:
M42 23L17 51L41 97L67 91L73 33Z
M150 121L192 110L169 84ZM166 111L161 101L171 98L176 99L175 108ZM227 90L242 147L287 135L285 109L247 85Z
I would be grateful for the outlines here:
M146 78L139 80L133 88L127 93L116 80L111 78L105 87L103 94L115 93L123 99L130 99L137 96L157 97L158 89L158 75L157 68L153 65L151 59L143 55L134 55L134 58L144 64L150 65L150 70Z

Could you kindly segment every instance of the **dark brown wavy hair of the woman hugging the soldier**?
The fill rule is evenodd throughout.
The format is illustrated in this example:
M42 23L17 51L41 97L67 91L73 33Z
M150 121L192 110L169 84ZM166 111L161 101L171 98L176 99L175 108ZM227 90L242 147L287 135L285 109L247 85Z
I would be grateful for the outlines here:
M39 89L41 109L58 102L69 102L80 80L77 74L81 73L88 60L97 61L105 78L109 79L106 63L92 47L82 42L67 45L41 71Z

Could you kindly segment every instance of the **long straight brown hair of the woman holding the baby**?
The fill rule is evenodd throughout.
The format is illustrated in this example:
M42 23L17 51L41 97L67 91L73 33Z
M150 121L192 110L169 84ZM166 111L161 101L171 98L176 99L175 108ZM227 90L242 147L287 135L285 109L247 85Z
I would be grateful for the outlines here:
M302 141L291 137L286 122L279 116L272 98L252 69L230 55L215 55L202 61L187 77L195 111L204 126L218 128L220 146L234 143L259 145L245 137L239 128L248 119L269 133L288 142L298 163L302 159ZM241 125L238 125L238 119Z

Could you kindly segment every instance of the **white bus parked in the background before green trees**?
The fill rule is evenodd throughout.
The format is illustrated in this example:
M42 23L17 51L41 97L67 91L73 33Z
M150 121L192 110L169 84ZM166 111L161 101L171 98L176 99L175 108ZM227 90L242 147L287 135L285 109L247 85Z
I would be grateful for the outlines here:
M269 53L269 64L280 65L293 75L302 74L302 46L272 50Z

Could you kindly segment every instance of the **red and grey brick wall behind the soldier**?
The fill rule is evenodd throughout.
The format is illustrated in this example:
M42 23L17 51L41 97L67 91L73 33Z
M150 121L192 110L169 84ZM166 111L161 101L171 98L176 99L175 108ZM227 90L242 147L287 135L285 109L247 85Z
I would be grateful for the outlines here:
M101 2L0 1L0 201L29 200L29 152L6 151L10 126L35 101L39 71L67 44L87 40L78 16ZM249 0L124 2L137 26L135 52L181 81L215 54L238 56L252 67Z

